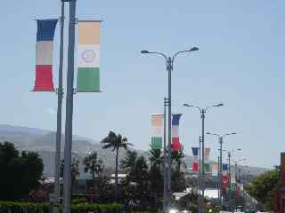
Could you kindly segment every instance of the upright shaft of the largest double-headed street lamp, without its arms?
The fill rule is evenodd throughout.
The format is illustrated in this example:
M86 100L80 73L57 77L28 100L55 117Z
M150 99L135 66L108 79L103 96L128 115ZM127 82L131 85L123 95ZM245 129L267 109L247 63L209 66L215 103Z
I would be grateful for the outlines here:
M168 70L168 172L167 172L167 205L168 209L171 208L171 72L173 70L173 60L168 57L167 59L167 70Z

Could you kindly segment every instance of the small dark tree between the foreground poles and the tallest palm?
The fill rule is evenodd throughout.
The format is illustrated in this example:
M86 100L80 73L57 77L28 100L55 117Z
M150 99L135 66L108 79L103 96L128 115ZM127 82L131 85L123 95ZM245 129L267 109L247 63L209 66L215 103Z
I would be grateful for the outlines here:
M83 164L85 166L84 171L89 171L92 175L92 180L94 184L95 174L100 175L102 173L102 160L98 159L98 155L96 152L93 152L92 154L88 154L87 156L85 156Z

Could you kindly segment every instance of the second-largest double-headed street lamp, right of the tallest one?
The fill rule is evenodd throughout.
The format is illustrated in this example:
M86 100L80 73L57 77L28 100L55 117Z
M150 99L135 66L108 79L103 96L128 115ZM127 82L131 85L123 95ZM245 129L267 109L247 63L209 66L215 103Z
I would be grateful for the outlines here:
M207 106L205 108L199 107L199 106L194 106L194 105L189 105L189 104L183 104L183 106L188 106L188 107L195 107L197 109L199 109L199 113L201 116L201 120L202 120L202 148L200 149L200 152L202 152L202 199L199 199L199 212L203 213L204 212L204 208L205 208L205 204L204 204L204 193L205 193L205 167L204 167L204 146L205 146L205 114L207 113L207 110L211 107L218 107L218 106L224 106L224 104L217 104L217 105L212 105L212 106Z

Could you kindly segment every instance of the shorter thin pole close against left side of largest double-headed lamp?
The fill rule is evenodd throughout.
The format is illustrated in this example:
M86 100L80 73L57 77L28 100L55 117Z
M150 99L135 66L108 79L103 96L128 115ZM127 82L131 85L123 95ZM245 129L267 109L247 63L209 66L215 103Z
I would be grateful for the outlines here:
M163 125L163 210L167 211L167 99L164 98L164 125Z

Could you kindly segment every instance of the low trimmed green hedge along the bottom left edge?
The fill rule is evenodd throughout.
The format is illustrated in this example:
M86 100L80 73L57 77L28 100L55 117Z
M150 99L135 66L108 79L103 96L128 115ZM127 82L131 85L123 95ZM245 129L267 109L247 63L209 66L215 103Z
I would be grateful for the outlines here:
M49 203L0 201L0 213L48 213L52 205ZM117 203L95 204L78 203L71 205L72 213L119 213L123 206Z

